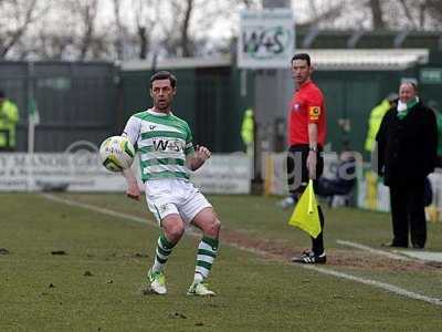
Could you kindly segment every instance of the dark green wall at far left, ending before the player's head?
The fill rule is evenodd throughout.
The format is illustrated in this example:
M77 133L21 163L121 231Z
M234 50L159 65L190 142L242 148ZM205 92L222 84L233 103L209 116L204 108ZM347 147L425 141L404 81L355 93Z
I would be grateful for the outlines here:
M65 151L72 143L102 142L117 127L116 68L104 62L0 62L0 89L20 113L18 151L28 149L28 107L36 102L36 152Z

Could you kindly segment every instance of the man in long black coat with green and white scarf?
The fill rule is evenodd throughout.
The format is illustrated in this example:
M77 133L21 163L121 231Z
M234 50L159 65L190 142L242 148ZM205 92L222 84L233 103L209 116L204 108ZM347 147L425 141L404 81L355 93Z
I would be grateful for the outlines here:
M398 106L385 115L376 136L378 173L390 187L393 239L389 247L413 248L427 240L424 179L434 170L438 129L433 112L418 97L415 84L399 89Z

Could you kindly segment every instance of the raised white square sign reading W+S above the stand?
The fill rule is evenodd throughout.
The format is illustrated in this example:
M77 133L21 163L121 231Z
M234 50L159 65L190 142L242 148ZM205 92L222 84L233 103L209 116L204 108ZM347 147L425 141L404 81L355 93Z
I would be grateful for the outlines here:
M288 68L295 50L294 27L291 9L241 11L238 66L242 69Z

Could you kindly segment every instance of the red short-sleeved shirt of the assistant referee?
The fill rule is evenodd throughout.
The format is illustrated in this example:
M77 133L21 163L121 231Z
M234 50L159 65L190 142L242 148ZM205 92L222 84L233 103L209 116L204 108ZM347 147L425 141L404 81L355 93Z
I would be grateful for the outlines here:
M293 95L288 108L288 145L308 144L308 124L318 126L317 144L326 138L326 111L323 92L312 81L305 82Z

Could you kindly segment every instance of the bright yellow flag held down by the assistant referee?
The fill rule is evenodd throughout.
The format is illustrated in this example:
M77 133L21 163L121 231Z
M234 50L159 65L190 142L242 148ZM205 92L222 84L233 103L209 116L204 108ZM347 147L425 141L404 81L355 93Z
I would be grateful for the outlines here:
M308 181L307 188L297 201L288 225L301 228L313 238L317 238L320 234L319 214L313 190L313 180Z

